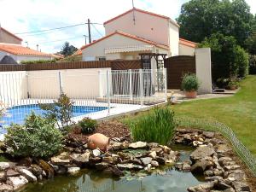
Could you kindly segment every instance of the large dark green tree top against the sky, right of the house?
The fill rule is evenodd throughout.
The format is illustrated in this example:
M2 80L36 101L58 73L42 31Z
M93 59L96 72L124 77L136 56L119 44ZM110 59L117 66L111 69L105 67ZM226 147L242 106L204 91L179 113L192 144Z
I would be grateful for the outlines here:
M235 37L237 44L245 47L253 15L245 0L191 0L183 3L177 22L182 38L200 43L218 32Z

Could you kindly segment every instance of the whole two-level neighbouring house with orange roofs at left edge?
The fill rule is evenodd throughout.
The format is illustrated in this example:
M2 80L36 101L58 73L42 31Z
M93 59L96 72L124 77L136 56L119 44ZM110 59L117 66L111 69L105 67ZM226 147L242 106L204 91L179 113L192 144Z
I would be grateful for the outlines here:
M0 61L5 55L11 56L16 62L52 60L57 55L43 53L21 45L22 39L0 26ZM8 63L7 63L8 64Z

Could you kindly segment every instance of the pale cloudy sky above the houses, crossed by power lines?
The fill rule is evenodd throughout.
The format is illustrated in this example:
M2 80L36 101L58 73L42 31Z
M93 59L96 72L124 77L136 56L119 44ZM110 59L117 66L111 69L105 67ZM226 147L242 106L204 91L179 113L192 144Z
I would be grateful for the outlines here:
M183 3L189 0L134 0L138 9L166 15L173 20L180 14ZM246 0L256 14L256 0ZM103 22L132 8L131 0L0 0L0 24L13 33L34 32L62 26L84 24L90 18L92 40L104 35ZM62 30L17 34L22 44L42 52L55 53L64 42L80 48L88 35L87 26L79 25ZM27 42L27 43L26 43ZM87 39L88 42L88 39Z

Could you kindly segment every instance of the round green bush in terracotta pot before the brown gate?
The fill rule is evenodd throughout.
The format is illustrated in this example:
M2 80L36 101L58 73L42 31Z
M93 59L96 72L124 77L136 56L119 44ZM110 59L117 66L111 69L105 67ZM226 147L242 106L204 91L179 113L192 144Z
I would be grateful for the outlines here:
M199 80L195 74L185 74L182 81L182 89L185 91L185 95L188 98L195 98L197 96L197 90L199 88Z

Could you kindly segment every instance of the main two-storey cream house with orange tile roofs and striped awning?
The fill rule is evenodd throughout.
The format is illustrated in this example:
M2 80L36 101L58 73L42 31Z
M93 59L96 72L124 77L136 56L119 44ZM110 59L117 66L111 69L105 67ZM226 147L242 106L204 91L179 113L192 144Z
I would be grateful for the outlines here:
M140 53L194 55L196 44L179 38L179 26L165 15L133 8L104 22L106 36L81 50L83 61L135 60Z

